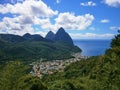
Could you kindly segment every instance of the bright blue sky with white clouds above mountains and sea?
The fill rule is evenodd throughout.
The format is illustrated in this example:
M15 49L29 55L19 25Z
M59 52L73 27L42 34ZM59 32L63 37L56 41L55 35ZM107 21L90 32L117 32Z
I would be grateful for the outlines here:
M63 27L73 39L111 39L120 0L0 0L0 33L40 34Z

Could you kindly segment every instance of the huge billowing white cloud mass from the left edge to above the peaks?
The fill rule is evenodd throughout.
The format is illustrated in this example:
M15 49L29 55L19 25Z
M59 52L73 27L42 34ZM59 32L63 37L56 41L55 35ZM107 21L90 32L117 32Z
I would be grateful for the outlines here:
M52 10L42 0L26 0L15 5L0 5L0 13L11 13L13 17L4 17L0 22L0 32L23 35L25 33L41 34L45 36L48 30L56 32L60 27L68 30L85 30L93 22L91 14L78 15ZM51 22L51 16L54 24ZM52 18L53 19L53 18ZM34 25L39 27L33 28ZM39 29L39 30L36 30Z

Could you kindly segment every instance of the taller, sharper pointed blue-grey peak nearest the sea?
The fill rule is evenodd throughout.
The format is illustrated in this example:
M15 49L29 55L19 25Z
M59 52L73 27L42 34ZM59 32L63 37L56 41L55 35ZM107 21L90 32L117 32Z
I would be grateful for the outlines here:
M62 27L55 34L54 41L56 41L56 42L60 41L60 42L64 42L64 43L73 45L72 38L70 37L70 35L67 32L65 32L65 30Z

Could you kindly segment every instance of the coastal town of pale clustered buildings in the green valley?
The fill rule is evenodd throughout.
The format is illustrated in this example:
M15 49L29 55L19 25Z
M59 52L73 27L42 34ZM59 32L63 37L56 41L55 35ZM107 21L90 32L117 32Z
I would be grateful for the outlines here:
M45 74L53 74L55 72L62 72L64 68L74 62L80 61L81 59L87 59L85 56L81 56L80 53L75 53L73 55L75 58L67 60L52 60L46 62L33 62L32 71L30 72L33 76L42 78Z

